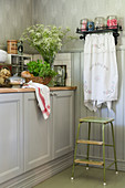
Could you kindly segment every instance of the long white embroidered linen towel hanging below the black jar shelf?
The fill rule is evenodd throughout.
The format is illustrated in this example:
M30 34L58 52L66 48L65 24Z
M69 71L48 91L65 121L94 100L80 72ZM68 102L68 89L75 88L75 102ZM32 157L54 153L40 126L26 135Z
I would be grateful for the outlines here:
M96 112L117 100L118 73L113 33L87 34L84 44L84 104Z

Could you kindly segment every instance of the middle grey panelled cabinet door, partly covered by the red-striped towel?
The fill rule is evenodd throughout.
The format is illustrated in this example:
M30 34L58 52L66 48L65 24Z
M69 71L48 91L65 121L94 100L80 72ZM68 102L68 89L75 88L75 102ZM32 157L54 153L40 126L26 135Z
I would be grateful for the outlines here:
M52 108L52 106L51 106ZM51 116L44 119L34 93L24 94L24 169L35 168L52 158Z

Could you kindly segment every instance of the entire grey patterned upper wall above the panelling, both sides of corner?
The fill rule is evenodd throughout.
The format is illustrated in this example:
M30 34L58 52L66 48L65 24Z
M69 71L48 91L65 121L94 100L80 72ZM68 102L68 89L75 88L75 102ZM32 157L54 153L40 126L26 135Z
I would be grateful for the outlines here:
M0 49L7 46L7 40L19 39L30 24L43 23L71 28L75 34L82 18L94 20L95 17L106 18L116 14L125 23L124 0L0 0ZM124 32L123 32L124 33ZM125 44L125 38L118 40ZM63 50L81 50L81 40L71 42ZM25 52L32 52L25 48Z

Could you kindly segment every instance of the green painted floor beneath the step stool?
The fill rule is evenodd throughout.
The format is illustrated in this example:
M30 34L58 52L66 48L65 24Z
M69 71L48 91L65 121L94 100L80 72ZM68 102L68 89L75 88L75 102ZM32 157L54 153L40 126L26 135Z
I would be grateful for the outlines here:
M103 186L103 169L75 166L75 179L71 180L72 168L67 168L34 188L125 188L125 173L106 170L106 186Z

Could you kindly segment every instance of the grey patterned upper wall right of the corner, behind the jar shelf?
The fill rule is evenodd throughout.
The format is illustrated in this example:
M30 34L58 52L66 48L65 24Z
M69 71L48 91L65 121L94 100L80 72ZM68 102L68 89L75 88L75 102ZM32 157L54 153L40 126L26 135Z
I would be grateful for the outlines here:
M33 22L70 27L75 34L82 18L94 20L95 17L116 14L123 20L125 0L33 0ZM65 49L82 48L83 43L79 40Z

